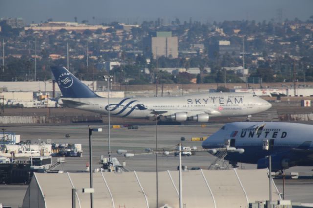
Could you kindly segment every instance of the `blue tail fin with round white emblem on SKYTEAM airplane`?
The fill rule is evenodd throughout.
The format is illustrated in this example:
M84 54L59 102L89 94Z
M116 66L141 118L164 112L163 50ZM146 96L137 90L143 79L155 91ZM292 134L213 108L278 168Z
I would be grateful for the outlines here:
M96 98L99 97L91 89L77 79L62 66L51 66L55 81L58 83L62 96L66 98Z

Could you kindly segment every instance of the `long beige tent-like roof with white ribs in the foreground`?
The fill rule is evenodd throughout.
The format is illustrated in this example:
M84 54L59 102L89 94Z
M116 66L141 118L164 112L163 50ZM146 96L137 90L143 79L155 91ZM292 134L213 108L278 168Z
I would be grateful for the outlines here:
M186 207L248 207L269 199L268 169L191 170L182 172L183 204ZM72 206L71 191L77 189L76 207L90 206L89 173L34 173L23 208ZM156 172L93 173L94 207L156 208ZM280 195L272 183L273 200ZM179 208L179 171L158 173L159 207Z

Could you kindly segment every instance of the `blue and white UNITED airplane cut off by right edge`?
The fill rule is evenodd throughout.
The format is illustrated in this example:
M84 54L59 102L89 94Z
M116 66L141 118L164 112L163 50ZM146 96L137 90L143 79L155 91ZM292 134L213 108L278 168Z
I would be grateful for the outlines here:
M313 166L313 125L285 122L233 122L224 125L202 143L204 149L243 149L228 152L224 159L233 167L237 162L257 164L281 171L293 166ZM216 152L213 152L216 153Z

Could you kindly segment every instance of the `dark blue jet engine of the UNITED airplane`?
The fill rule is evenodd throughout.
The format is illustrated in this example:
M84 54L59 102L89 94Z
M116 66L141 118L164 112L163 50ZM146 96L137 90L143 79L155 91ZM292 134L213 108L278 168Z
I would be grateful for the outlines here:
M272 171L279 171L282 169L288 169L295 166L291 163L289 158L285 158L282 155L272 155ZM269 168L268 157L258 160L258 169Z

